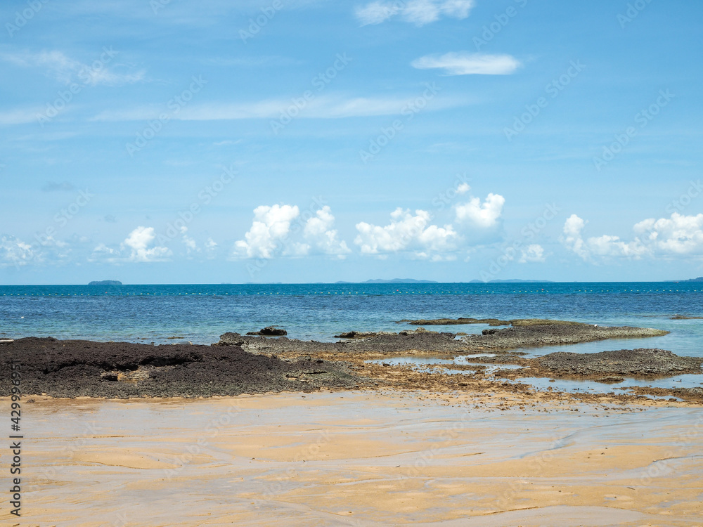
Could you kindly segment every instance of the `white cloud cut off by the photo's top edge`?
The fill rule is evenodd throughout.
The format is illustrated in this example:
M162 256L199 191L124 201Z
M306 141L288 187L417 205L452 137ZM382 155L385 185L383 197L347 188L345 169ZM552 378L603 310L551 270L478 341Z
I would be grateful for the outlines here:
M462 20L467 18L473 0L409 0L402 1L373 1L354 10L361 25L380 24L396 15L406 22L422 26L436 22L441 15Z

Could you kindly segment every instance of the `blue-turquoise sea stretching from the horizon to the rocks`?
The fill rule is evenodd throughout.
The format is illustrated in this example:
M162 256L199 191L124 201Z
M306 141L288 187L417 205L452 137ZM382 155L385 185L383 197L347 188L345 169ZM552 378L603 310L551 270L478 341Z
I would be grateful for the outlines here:
M228 332L278 325L288 336L331 341L349 330L399 331L404 318L558 318L669 330L652 339L569 351L659 347L703 356L703 283L0 286L0 337L212 344ZM480 332L485 326L435 326ZM550 350L553 351L553 350Z

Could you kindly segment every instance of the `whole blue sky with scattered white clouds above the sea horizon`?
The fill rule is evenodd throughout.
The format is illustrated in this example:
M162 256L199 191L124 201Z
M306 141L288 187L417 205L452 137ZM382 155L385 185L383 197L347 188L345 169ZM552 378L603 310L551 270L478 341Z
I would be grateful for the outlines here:
M0 284L703 275L697 0L6 0Z

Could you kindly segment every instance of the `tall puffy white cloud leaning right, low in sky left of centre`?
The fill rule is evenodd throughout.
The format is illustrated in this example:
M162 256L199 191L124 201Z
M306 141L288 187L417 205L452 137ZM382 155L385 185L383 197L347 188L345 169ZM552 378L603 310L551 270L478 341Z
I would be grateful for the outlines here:
M234 256L240 258L273 258L279 242L288 238L290 222L299 215L297 206L262 205L254 209L254 221L245 240L234 245Z

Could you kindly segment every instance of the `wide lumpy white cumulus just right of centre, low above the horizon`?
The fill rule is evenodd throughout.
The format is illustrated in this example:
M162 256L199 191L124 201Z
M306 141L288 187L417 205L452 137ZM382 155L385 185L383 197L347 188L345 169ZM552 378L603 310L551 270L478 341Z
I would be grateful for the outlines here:
M451 225L438 227L430 223L430 213L416 210L395 209L387 226L357 223L359 235L354 243L361 247L362 254L383 254L404 250L416 250L416 256L428 257L430 252L448 252L456 249L457 233Z

